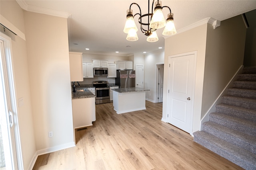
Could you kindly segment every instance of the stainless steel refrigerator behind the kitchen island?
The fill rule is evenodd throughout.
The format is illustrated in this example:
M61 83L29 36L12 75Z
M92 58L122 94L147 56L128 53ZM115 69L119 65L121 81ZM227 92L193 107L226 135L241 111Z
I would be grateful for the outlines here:
M135 87L135 70L116 70L116 85L119 88Z

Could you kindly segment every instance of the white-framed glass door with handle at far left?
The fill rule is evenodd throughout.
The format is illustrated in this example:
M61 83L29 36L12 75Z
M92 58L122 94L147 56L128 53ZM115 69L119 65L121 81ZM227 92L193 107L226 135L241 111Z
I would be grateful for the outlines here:
M19 139L16 134L18 120L12 84L10 40L2 36L6 37L0 37L0 169L23 169L22 165L18 165L20 146L15 145Z

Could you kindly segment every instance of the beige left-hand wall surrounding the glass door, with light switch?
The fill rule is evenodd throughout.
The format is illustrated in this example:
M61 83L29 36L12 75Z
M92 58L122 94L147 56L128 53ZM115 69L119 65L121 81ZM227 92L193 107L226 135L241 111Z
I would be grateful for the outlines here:
M1 16L6 18L14 27L16 27L16 29L19 29L24 33L23 10L20 8L17 2L1 0L0 6ZM11 25L5 26L11 27ZM34 136L34 124L30 96L26 41L18 36L15 36L15 39L12 40L11 44L16 103L18 104L19 98L24 99L23 106L17 106L17 109L23 167L25 170L27 170L29 169L34 156L36 156L36 142Z

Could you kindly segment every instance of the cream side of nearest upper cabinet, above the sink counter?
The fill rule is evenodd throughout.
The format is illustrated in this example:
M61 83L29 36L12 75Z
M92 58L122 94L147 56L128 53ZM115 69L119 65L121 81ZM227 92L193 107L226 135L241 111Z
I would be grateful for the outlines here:
M70 81L83 81L82 53L69 52Z

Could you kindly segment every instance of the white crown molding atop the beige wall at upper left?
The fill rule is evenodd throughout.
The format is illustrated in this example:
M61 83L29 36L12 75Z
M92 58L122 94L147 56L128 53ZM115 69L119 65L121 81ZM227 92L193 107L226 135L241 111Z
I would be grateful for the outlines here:
M36 12L36 13L40 13L40 14L47 14L47 15L57 16L57 17L62 17L62 18L69 18L71 16L71 14L69 14L67 12L60 12L60 11L56 11L56 10L50 10L47 8L41 8L41 7L37 7L37 6L28 5L24 0L16 0L16 2L19 4L19 6L23 10L26 10L29 12Z

